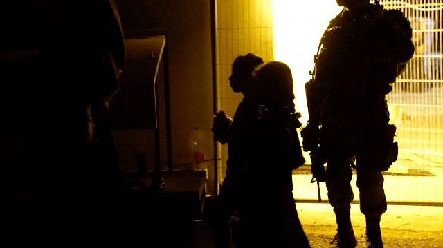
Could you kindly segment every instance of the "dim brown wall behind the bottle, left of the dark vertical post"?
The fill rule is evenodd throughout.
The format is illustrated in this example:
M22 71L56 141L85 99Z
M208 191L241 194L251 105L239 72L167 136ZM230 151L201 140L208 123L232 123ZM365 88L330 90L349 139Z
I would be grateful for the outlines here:
M210 1L115 0L115 3L125 37L155 33L166 37L172 166L192 162L188 141L196 126L206 135L206 159L214 158L210 131L213 122ZM163 139L161 142L165 142ZM166 151L161 150L163 157ZM162 169L165 166L163 163Z

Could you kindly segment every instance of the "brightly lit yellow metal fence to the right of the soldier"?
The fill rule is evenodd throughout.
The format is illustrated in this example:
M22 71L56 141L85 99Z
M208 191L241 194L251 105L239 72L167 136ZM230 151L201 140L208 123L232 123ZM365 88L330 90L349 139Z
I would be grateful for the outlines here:
M399 159L386 178L392 201L443 204L443 3L380 1L404 12L413 27L415 55L388 95L397 126ZM397 184L395 184L397 183Z

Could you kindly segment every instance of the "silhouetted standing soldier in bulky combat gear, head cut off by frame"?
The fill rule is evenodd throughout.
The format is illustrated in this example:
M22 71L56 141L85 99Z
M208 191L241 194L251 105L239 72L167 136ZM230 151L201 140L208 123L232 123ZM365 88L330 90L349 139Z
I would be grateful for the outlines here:
M380 219L387 209L382 171L397 159L386 94L413 57L412 29L402 12L385 10L378 1L336 2L343 10L321 37L313 83L317 86L307 93L315 99L312 106L319 108L309 109L317 115L309 115L303 143L309 138L305 131L319 130L311 136L319 137L313 144L320 145L327 161L327 195L337 222L332 243L357 246L350 220L355 166L368 248L380 248Z

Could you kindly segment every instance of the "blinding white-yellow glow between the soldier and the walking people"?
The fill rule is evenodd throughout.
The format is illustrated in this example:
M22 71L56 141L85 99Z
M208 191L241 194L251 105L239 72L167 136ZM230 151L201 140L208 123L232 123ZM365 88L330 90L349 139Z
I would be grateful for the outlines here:
M318 41L341 7L334 0L273 0L274 57L292 70L296 108L307 122L305 82L314 68Z

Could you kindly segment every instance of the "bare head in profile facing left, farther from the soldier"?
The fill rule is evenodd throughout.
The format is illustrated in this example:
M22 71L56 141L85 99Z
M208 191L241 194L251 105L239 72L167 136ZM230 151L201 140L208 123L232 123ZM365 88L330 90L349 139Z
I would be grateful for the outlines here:
M240 55L233 62L232 75L229 77L230 87L236 93L247 94L255 81L253 71L257 66L263 64L263 59L253 53Z

